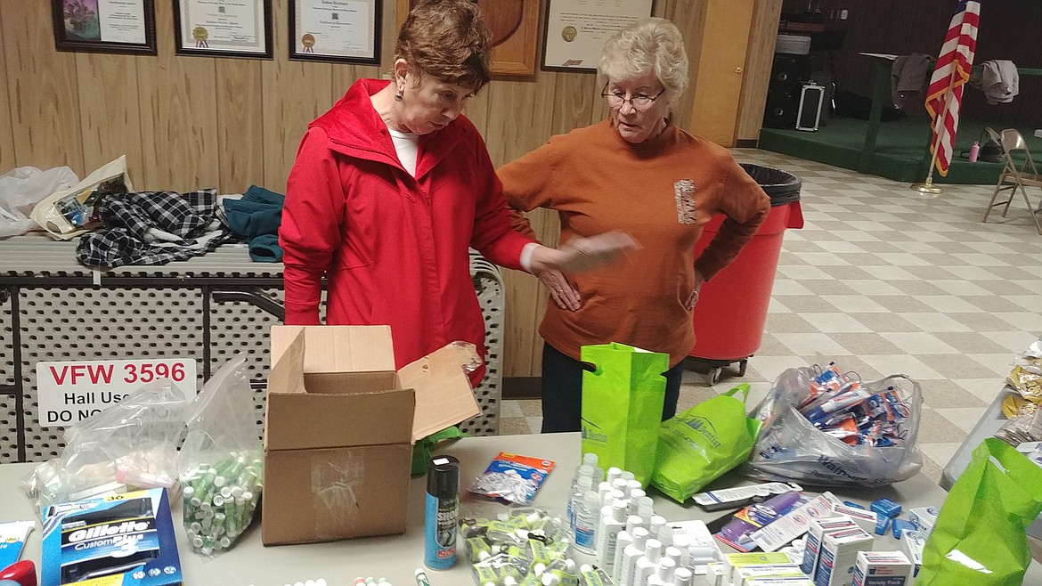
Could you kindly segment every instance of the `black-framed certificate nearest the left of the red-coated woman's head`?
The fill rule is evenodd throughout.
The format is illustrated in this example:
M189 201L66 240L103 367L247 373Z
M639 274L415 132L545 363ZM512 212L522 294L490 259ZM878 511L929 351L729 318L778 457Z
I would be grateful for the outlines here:
M290 58L380 64L381 0L290 0Z

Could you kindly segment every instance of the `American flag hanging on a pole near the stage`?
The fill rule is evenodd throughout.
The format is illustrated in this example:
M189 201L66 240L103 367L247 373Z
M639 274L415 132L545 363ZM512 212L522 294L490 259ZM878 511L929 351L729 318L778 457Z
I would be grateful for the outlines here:
M960 0L956 16L951 17L948 33L944 35L937 68L929 78L926 91L926 109L934 120L934 140L931 152L937 151L937 170L948 174L951 153L956 148L956 128L959 126L959 106L963 103L963 86L969 81L976 51L976 31L981 22L981 3ZM938 117L944 116L939 124Z

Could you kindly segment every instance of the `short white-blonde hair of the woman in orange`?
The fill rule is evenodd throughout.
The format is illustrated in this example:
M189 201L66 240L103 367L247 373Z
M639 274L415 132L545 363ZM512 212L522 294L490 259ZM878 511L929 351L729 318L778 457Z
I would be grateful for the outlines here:
M653 73L672 101L688 89L688 53L680 29L660 18L635 22L604 43L597 73L601 83L638 79Z

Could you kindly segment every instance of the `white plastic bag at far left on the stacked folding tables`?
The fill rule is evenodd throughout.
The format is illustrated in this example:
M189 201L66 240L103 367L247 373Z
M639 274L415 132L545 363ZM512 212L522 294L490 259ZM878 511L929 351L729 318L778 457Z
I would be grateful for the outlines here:
M35 227L29 214L36 203L77 182L79 177L68 167L46 171L18 167L0 175L0 238L25 234Z

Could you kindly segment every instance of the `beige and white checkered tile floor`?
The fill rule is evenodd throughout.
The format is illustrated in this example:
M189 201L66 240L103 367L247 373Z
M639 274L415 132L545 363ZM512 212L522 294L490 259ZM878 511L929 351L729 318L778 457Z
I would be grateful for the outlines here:
M903 372L922 386L923 471L939 481L1013 359L1042 335L1042 236L1023 201L985 224L992 186L925 196L773 152L734 153L800 176L805 223L785 235L763 343L745 376L710 387L689 371L678 410L741 381L754 405L784 369L819 355L864 380ZM501 433L538 433L540 423L539 401L503 402Z

